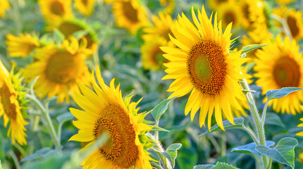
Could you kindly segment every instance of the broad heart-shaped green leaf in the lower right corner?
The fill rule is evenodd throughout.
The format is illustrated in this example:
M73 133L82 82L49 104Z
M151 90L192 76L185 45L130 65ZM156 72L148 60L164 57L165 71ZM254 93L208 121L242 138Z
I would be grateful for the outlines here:
M274 149L268 148L264 145L256 146L255 150L260 154L264 154L269 158L289 165L291 168L295 168L295 146L298 145L298 141L292 137L285 137L280 139L277 146Z

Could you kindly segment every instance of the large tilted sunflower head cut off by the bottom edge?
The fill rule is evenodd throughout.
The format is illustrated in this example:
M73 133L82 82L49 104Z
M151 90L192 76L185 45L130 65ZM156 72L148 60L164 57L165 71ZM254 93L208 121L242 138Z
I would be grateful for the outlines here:
M149 125L142 123L144 115L137 114L137 103L130 103L131 97L123 101L121 91L114 86L114 79L109 86L104 83L99 67L97 80L92 73L94 92L79 84L81 92L73 93L73 99L83 109L70 108L77 121L75 127L80 130L70 140L94 144L104 132L109 133L107 142L96 149L82 162L83 168L147 168L152 169L150 158L140 141L140 135L151 130Z

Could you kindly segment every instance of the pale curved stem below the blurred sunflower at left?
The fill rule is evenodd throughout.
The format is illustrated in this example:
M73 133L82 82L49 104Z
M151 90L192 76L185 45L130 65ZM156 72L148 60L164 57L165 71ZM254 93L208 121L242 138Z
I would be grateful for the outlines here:
M47 122L47 123L44 123L44 125L46 125L46 127L48 128L49 134L51 135L51 139L53 139L54 145L55 145L56 149L58 149L60 147L60 141L59 141L59 139L57 137L54 125L51 122L51 117L49 116L48 108L44 108L44 106L36 98L36 96L32 96L30 94L26 94L26 97L28 99L32 100L38 106L38 108L41 110L42 115L44 116L44 118L45 118L45 120Z

